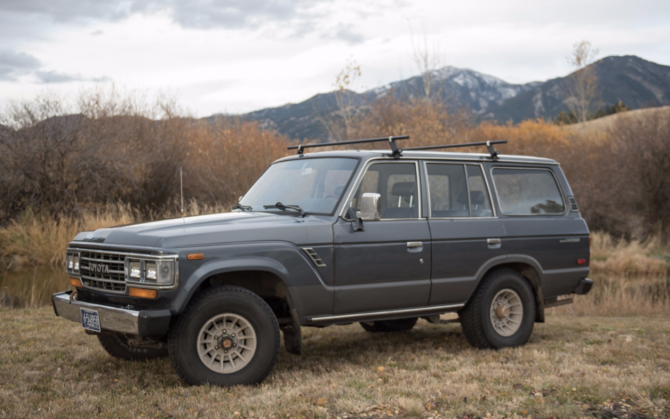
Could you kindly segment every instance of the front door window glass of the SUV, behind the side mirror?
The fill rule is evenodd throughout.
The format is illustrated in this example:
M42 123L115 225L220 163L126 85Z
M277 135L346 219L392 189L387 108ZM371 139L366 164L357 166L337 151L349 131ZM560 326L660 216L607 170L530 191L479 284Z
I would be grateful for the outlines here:
M351 200L348 216L355 217L364 193L381 195L381 219L418 218L418 185L413 162L375 163L368 167Z

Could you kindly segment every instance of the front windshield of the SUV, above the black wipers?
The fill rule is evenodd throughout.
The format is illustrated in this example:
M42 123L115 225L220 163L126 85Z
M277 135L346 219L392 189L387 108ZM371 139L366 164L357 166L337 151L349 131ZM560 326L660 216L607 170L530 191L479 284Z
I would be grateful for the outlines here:
M358 160L311 158L275 163L239 202L252 211L264 205L297 205L304 212L331 214L339 202ZM272 209L277 211L278 209Z

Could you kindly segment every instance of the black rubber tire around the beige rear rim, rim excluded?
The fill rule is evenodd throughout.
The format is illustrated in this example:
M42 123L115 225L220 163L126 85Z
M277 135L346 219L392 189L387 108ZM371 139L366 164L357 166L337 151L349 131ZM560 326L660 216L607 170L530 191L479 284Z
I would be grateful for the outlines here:
M520 299L523 314L519 329L511 336L496 331L492 319L493 299L505 290L514 291ZM458 313L463 334L475 348L508 348L524 345L535 325L535 295L528 281L512 269L488 274L465 308Z

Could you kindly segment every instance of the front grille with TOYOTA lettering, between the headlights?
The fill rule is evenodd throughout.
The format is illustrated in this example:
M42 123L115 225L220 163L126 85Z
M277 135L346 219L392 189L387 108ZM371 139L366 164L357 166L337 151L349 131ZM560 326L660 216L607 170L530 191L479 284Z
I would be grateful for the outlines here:
M83 286L113 293L125 293L123 254L82 250L79 259Z

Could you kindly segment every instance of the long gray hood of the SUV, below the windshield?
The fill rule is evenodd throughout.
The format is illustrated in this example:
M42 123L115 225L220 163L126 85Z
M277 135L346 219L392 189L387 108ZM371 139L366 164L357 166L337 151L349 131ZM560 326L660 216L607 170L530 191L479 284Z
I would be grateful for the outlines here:
M332 222L267 212L228 212L130 224L77 234L73 242L129 247L196 247L234 242L332 243Z

